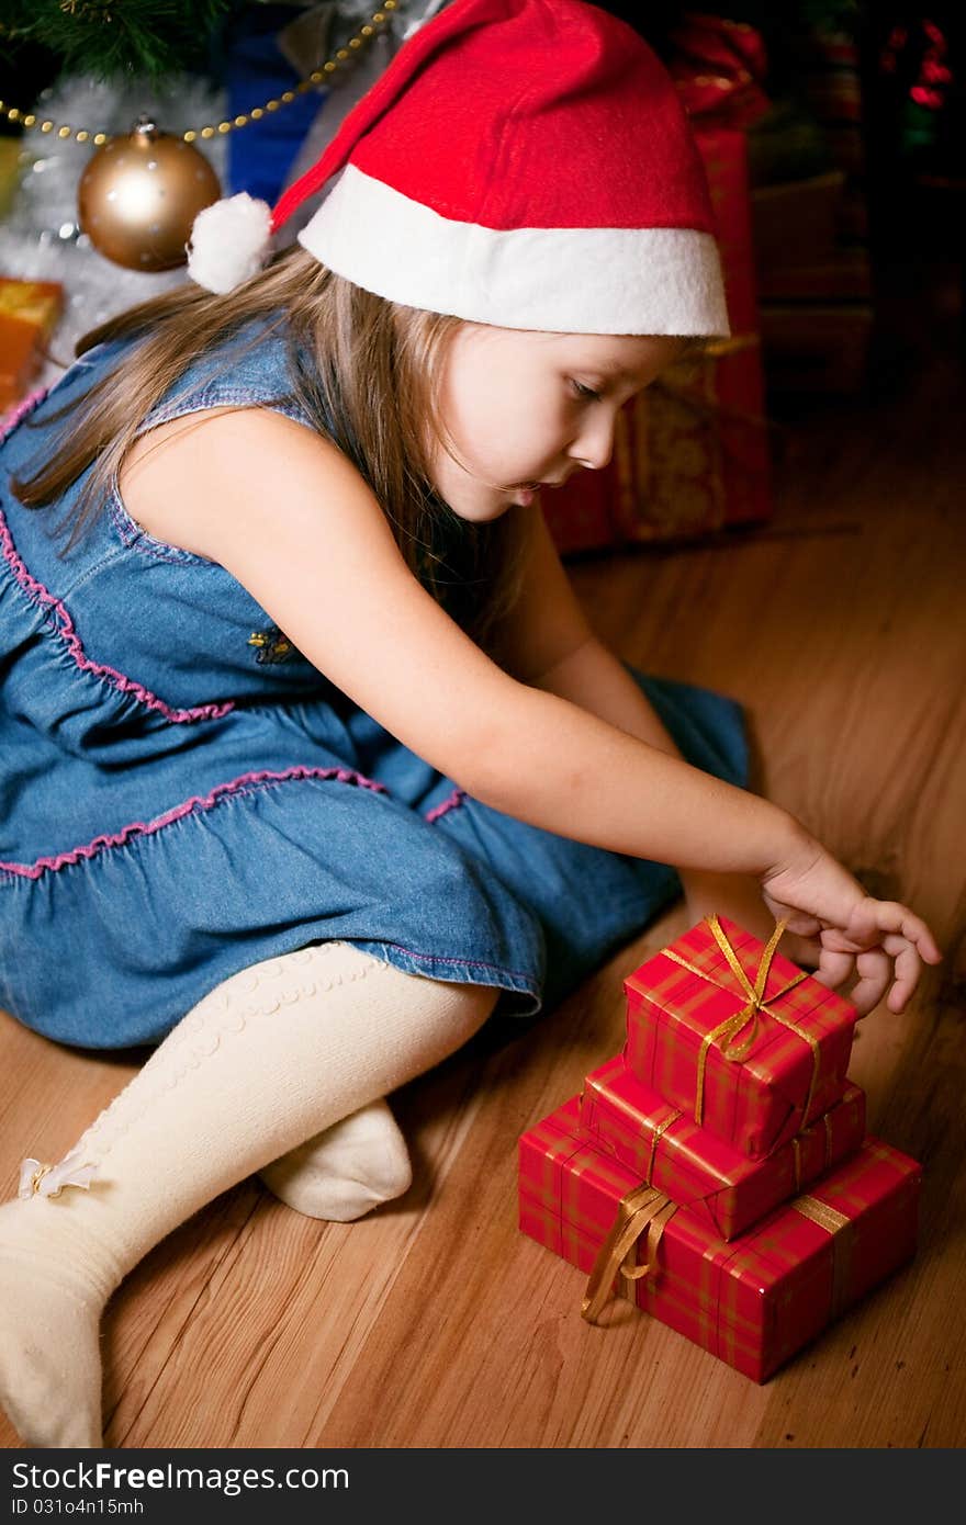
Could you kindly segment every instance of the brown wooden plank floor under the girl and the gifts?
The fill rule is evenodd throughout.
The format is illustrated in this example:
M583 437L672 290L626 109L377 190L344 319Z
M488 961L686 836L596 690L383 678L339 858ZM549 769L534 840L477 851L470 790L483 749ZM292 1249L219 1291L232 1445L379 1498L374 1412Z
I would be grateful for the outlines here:
M104 1325L122 1447L957 1447L966 1443L966 374L923 279L877 398L783 409L775 517L720 544L575 563L610 645L746 705L755 787L887 897L945 962L858 1032L870 1125L925 1165L916 1261L757 1386L516 1226L520 1132L623 1040L621 981L676 906L523 1037L398 1093L417 1182L356 1225L252 1182L160 1244ZM136 1055L64 1052L0 1014L0 1186L58 1159ZM0 1443L17 1446L0 1420Z

